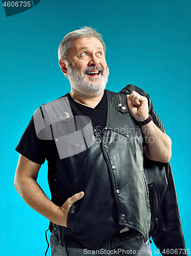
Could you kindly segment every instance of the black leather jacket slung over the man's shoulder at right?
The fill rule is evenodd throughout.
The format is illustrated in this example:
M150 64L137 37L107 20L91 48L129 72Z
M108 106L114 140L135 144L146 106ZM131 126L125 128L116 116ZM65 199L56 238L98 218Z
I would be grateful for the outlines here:
M129 84L120 93L131 94L132 91L148 98L149 114L158 128L165 132L160 118L153 110L151 98L145 91ZM170 163L151 161L146 157L144 165L152 214L150 236L162 255L165 256L168 252L170 255L186 255L171 165Z

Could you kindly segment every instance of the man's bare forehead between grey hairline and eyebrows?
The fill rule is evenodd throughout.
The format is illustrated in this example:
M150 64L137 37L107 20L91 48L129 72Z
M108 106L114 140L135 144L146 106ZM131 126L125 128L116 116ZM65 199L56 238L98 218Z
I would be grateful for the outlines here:
M102 49L103 45L101 41L96 37L84 37L84 38L78 38L73 40L73 47L69 50L69 52L78 52L83 49Z

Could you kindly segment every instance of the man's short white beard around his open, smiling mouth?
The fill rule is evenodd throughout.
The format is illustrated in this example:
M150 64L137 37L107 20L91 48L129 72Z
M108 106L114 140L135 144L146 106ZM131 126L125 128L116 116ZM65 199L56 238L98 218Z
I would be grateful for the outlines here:
M93 70L99 70L101 71L101 74L99 77L89 76L90 80L87 80L85 77L86 72ZM84 98L98 97L105 90L109 76L109 68L107 67L106 70L104 70L101 66L91 66L83 70L83 74L81 74L79 69L74 68L69 64L67 74L74 94L81 97L83 96ZM102 76L102 78L100 76Z

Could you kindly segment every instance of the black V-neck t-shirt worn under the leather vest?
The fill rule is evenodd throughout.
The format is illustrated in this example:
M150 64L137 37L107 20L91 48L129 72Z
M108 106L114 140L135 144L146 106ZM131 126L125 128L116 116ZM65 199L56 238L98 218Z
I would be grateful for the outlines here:
M69 93L65 96L67 96L69 100L73 100ZM82 115L88 116L91 119L93 128L103 136L103 129L106 125L107 118L106 92L104 92L101 101L94 109L76 101L74 101L74 103ZM45 159L47 161L56 161L57 157L57 147L54 140L42 140L37 138L33 117L31 118L31 121L29 122L29 125L23 133L15 150L22 156L25 156L29 160L38 164L43 164Z

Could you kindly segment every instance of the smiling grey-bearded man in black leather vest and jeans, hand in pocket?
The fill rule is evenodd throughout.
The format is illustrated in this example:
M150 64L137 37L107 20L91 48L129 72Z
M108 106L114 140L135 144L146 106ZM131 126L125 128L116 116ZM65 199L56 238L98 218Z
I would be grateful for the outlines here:
M171 139L152 121L149 97L136 87L127 96L105 90L109 69L96 31L70 32L58 55L71 91L34 114L16 147L15 187L51 221L52 255L151 254L143 153L168 163ZM52 201L36 182L45 158Z

